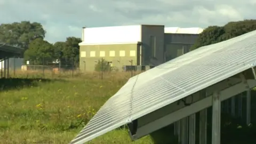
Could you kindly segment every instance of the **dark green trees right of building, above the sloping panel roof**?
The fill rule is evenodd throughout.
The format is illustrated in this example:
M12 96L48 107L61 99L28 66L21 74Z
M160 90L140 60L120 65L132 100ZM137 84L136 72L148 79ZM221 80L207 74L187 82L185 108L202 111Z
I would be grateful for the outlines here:
M253 30L256 30L256 20L229 22L222 27L210 26L199 34L196 43L191 47L190 50L195 50L201 46L226 41L230 38L243 35Z

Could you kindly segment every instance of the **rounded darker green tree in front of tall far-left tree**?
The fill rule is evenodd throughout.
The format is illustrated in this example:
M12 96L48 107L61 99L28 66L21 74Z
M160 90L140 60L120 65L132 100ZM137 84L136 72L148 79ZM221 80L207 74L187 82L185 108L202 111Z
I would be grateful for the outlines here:
M42 38L32 41L24 53L24 59L36 61L36 65L43 65L45 61L56 59L54 56L53 45Z

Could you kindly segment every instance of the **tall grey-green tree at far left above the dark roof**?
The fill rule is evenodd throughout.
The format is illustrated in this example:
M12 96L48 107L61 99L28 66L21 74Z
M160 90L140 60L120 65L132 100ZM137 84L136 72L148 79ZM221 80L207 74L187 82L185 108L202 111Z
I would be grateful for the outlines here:
M3 23L0 25L0 42L28 49L30 42L44 38L46 31L41 23L29 21Z

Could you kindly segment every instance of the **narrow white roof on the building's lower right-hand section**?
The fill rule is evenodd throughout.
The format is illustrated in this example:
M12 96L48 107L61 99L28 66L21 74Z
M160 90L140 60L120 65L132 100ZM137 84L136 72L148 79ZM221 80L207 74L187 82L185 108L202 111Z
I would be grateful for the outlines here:
M179 28L179 27L166 27L164 33L170 34L200 34L203 28Z

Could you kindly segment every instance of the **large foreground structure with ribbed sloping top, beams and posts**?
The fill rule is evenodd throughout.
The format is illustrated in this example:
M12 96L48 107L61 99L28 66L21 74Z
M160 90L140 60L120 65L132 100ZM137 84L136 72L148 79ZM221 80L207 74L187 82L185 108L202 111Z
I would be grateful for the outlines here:
M199 143L204 144L206 108L212 107L212 144L219 144L221 101L248 91L246 121L250 123L249 90L256 86L255 39L252 31L203 46L130 78L71 143L90 141L125 124L132 140L175 124L180 142L194 144L195 113L199 112ZM233 102L231 107L234 111Z

